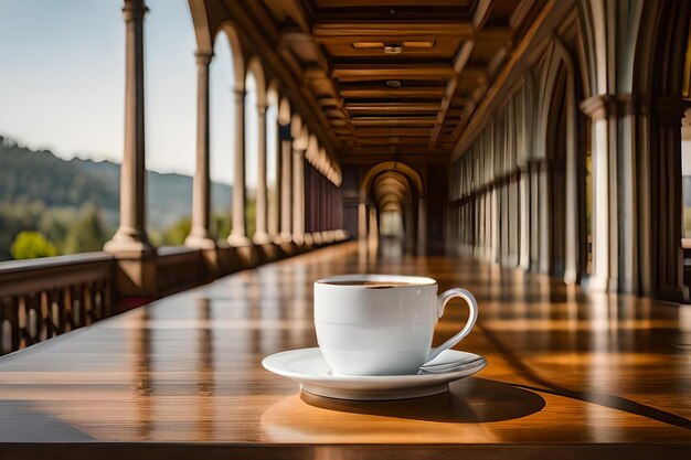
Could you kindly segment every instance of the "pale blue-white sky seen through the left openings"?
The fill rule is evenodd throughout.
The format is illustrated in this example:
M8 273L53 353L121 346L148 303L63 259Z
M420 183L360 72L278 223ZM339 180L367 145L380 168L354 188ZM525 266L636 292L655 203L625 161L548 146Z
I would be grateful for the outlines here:
M196 68L188 2L147 0L147 168L193 174ZM121 161L121 0L0 0L0 135L64 159ZM210 72L211 175L213 181L232 183L234 82L230 44L223 35L214 45ZM275 136L272 125L268 136ZM255 124L246 124L246 137L252 151ZM269 171L275 154L269 142ZM249 188L256 183L255 163L247 161ZM269 174L272 181L275 174Z

